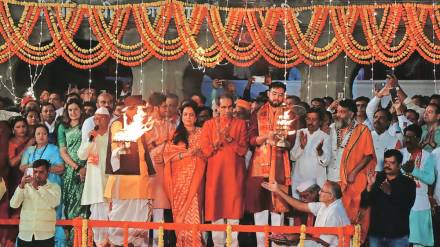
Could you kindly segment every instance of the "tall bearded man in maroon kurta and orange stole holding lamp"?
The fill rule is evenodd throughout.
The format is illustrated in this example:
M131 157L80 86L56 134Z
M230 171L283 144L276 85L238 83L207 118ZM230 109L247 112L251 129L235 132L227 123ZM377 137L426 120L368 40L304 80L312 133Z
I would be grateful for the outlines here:
M283 224L283 213L288 211L287 203L278 195L261 187L263 182L277 182L287 192L290 185L290 161L288 150L293 138L288 138L288 147L280 148L275 144L274 134L277 130L279 116L284 114L282 103L285 98L286 85L281 82L270 84L265 103L251 116L249 143L255 148L247 178L246 210L254 213L256 225L269 223ZM264 234L257 233L258 246L264 246Z

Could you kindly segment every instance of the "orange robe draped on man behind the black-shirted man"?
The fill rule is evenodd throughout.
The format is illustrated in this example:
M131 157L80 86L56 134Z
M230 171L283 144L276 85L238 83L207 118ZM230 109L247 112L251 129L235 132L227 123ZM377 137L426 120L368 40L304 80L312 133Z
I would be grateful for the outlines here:
M373 155L373 159L356 176L355 181L349 184L347 177L359 164L359 162L368 155ZM347 211L351 223L361 224L362 239L365 239L368 233L370 223L369 209L365 211L361 218L358 218L360 211L361 193L367 186L367 173L376 167L376 156L373 145L373 138L368 127L358 124L353 130L350 140L342 153L340 165L340 178L342 189L342 203Z

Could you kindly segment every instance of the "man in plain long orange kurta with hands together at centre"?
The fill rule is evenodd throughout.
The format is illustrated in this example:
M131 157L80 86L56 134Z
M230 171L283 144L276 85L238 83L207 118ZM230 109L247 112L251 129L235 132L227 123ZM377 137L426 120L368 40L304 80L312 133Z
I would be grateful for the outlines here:
M220 116L202 128L201 147L208 159L205 219L213 224L238 224L244 211L247 130L244 120L232 117L233 102L229 95L220 96ZM224 246L225 237L224 232L213 232L214 246ZM232 246L238 246L237 233L232 238Z

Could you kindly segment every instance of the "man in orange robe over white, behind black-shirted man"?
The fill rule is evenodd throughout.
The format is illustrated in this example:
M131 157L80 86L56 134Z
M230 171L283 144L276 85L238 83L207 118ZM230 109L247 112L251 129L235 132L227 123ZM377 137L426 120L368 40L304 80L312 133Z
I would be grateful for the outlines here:
M341 185L342 203L351 223L360 224L363 236L366 236L369 211L360 208L361 193L367 186L367 173L376 167L376 157L368 127L354 119L356 110L352 100L339 102L330 132L333 161L327 173L329 180Z

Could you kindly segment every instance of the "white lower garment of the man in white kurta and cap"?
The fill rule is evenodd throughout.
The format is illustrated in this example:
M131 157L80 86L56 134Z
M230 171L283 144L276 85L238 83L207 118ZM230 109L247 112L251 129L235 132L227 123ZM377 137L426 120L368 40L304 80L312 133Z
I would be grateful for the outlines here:
M95 203L90 205L91 220L109 220L109 204L107 202ZM94 227L93 241L96 246L105 246L108 243L108 228Z

